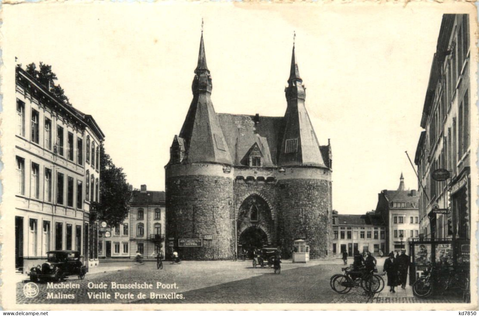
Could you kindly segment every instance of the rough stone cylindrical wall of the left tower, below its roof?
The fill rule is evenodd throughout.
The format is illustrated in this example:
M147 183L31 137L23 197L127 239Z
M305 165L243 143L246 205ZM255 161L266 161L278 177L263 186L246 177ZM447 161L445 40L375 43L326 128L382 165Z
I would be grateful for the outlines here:
M230 178L188 175L166 179L167 238L174 238L180 258L232 258L235 244L233 201ZM204 240L203 247L178 247L178 238L203 238L204 235L213 238ZM171 253L171 248L168 252Z

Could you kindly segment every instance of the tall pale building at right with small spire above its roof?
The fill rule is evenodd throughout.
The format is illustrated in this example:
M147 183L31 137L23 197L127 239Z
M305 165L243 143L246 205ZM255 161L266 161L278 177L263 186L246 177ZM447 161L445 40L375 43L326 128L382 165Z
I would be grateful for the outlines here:
M419 195L406 190L404 177L400 177L398 190L378 193L376 214L386 225L386 252L407 248L408 239L419 235Z

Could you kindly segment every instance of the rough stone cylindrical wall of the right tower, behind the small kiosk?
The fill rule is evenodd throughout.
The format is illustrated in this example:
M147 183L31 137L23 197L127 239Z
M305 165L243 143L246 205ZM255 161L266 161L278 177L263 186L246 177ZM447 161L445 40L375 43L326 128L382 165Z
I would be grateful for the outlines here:
M309 245L311 259L331 253L331 181L290 179L278 181L278 246L289 252L293 240Z

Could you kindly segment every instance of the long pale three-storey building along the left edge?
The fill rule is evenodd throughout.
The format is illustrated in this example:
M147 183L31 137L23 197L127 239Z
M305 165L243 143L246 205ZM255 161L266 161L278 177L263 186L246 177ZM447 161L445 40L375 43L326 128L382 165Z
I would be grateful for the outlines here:
M98 264L99 146L104 135L91 115L65 104L22 68L16 68L14 154L15 266L46 259L49 250L79 250Z

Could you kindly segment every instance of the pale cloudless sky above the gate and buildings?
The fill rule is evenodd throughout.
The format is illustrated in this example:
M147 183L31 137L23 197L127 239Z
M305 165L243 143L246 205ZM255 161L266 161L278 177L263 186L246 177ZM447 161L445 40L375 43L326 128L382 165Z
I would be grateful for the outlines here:
M333 209L364 214L406 188L444 8L438 4L50 3L5 5L4 61L52 65L93 115L133 187L164 190L164 166L192 100L204 20L217 113L283 116L293 32L306 107L331 139ZM6 71L14 63L5 61ZM10 67L10 68L9 68Z

